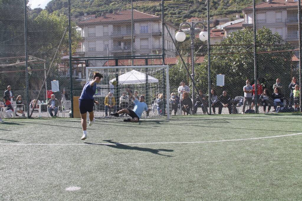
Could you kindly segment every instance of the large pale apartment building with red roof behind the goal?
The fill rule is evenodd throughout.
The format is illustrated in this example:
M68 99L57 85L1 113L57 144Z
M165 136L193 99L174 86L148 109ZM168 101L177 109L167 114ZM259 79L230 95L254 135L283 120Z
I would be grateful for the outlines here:
M155 15L133 10L133 46L131 44L131 10L108 14L78 23L82 28L84 56L125 56L162 54L162 22ZM167 24L175 39L177 27ZM175 57L176 49L165 30L166 57Z

